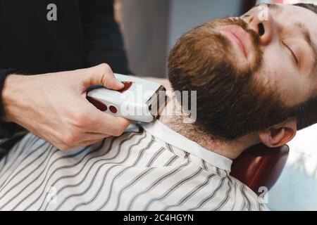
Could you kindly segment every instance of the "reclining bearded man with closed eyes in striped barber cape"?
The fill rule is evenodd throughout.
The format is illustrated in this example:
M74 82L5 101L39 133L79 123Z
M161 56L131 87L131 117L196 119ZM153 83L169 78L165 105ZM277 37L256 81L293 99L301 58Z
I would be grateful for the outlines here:
M196 122L170 101L139 132L66 153L28 134L0 162L0 210L266 210L232 160L284 145L317 113L317 7L267 9L205 23L170 51L175 104L197 91Z

